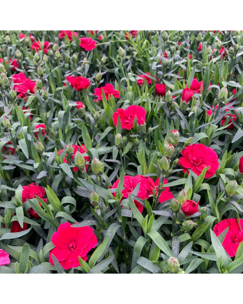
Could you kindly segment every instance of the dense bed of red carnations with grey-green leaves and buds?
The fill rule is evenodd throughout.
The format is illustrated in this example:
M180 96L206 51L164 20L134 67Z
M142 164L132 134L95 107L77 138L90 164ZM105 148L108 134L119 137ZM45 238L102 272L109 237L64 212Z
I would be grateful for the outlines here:
M1 31L0 273L242 273L242 31Z

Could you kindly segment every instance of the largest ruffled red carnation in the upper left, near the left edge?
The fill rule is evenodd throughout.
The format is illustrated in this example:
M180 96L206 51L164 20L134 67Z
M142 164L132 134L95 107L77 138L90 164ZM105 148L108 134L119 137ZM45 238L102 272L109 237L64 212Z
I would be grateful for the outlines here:
M26 98L29 93L35 94L36 82L26 78L24 73L15 74L12 79L15 83L13 89L19 93L18 98Z

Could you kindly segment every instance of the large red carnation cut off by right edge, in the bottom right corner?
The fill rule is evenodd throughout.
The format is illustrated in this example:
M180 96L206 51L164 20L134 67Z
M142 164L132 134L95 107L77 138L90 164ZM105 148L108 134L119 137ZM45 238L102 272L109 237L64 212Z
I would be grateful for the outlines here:
M234 257L239 244L243 241L243 219L240 219L241 229L238 224L238 219L224 219L214 226L216 236L220 235L226 228L228 232L224 238L222 246L230 257Z

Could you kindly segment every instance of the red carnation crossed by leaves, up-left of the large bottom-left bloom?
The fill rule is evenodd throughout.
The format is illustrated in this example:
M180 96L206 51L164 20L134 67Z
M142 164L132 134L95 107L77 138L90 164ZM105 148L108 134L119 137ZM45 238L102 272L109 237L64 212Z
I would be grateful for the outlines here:
M47 199L43 199L43 196L46 195L46 191L43 187L37 186L35 183L29 184L27 186L23 186L23 191L22 191L22 202L26 202L27 199L33 199L36 198L35 195L39 196L45 203ZM41 206L41 204L39 203ZM36 219L39 218L39 215L32 209L30 208L27 210L30 215L35 217Z

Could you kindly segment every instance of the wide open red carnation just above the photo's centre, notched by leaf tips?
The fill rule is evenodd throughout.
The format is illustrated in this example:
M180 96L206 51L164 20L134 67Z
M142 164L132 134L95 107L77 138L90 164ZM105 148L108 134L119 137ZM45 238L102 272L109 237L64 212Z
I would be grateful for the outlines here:
M121 129L130 130L133 127L135 116L137 116L137 123L143 125L145 123L146 111L140 105L129 105L127 109L117 109L113 114L113 121L117 125L118 116L121 119Z

